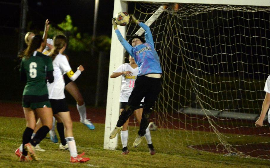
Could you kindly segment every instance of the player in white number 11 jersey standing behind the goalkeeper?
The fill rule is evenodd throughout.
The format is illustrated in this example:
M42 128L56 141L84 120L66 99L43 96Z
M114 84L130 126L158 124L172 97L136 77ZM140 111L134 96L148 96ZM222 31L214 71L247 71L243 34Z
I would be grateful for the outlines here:
M115 71L113 71L111 78L122 76L122 82L121 82L121 91L120 91L120 113L124 110L128 98L132 92L132 89L134 87L135 80L137 78L138 74L138 65L135 63L134 58L129 56L129 64L122 64L120 67L118 67ZM134 114L136 119L138 120L139 124L141 123L142 119L142 111L143 111L143 104L144 104L144 98L141 101L141 104L137 106L134 110ZM123 129L120 132L121 141L122 141L122 153L121 154L128 154L128 122L129 118L123 125ZM146 133L144 137L147 140L149 152L151 155L155 154L155 149L153 147L152 138L150 134L149 128L146 129Z

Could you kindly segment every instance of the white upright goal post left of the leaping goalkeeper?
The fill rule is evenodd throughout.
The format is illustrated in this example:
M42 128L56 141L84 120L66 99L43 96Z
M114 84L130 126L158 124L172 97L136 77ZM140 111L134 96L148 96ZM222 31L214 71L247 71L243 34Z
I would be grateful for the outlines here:
M126 1L114 1L113 16L120 12L127 11ZM126 26L118 26L118 30L126 38ZM109 63L109 75L112 71L116 70L121 64L123 64L124 59L124 47L118 41L115 34L115 30L112 28L112 42L111 42L111 54ZM110 133L116 126L119 117L119 95L121 89L121 78L108 80L108 92L107 92L107 105L106 105L106 119L105 119L105 132L104 132L104 149L114 150L117 147L118 136L113 139L109 138Z

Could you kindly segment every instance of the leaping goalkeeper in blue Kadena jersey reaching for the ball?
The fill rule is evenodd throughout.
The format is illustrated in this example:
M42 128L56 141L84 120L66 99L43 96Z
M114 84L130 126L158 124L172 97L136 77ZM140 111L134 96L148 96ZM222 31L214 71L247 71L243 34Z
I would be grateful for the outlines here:
M137 147L143 139L145 130L149 124L149 117L152 107L158 98L161 91L161 66L158 53L154 49L154 41L150 28L142 22L139 22L131 15L132 22L138 24L145 30L145 40L140 36L133 36L129 39L129 43L123 38L120 31L117 29L115 19L112 20L112 25L117 35L118 40L124 46L126 51L134 58L138 65L138 75L135 81L135 86L128 99L125 109L122 111L115 129L110 134L110 138L114 138L123 128L123 124L128 117L133 113L137 106L140 105L144 97L144 106L142 120L139 129L139 136L135 139L133 147Z

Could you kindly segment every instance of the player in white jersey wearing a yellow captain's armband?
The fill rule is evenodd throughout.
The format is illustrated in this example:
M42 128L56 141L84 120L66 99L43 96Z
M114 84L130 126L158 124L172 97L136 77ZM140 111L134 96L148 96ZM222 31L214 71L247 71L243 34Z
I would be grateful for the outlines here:
M57 35L53 38L54 47L50 56L53 59L53 76L55 80L53 83L47 83L49 99L55 118L60 118L63 121L65 127L65 142L70 152L70 162L86 162L90 159L82 157L84 153L80 155L77 154L72 131L72 119L64 94L65 82L63 79L63 75L67 74L72 81L76 80L84 68L80 65L75 73L72 71L66 56L62 54L66 49L66 43L67 39L63 35Z

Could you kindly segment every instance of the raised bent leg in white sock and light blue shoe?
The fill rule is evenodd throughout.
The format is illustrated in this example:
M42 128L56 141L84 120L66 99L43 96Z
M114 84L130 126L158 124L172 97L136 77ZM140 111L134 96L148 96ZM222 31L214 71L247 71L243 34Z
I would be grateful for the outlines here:
M93 125L93 123L90 122L90 119L86 119L86 108L85 108L84 99L76 83L74 83L73 81L69 82L65 86L65 89L71 94L71 96L77 102L77 110L80 114L80 122L86 125L90 130L94 130L95 126Z

